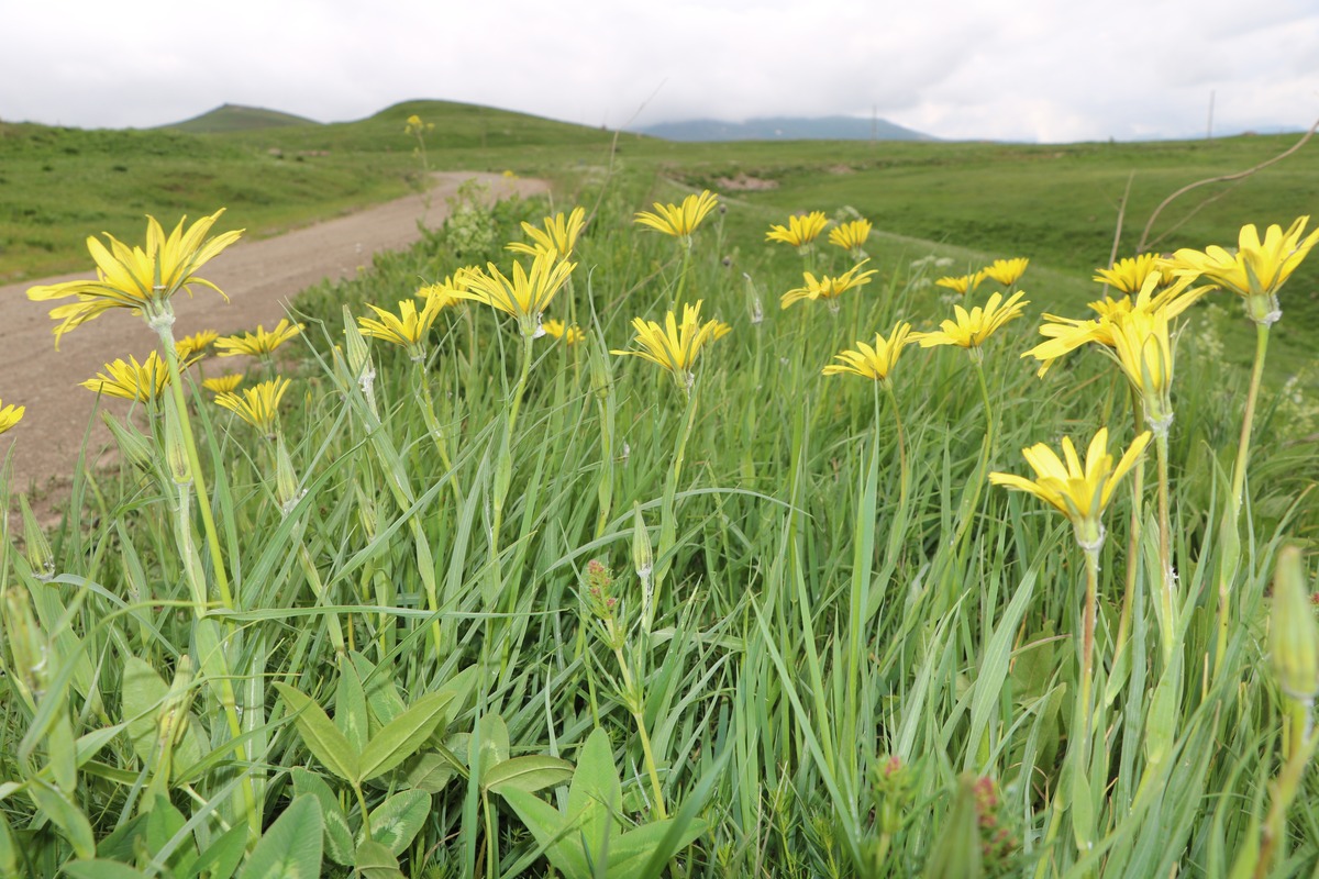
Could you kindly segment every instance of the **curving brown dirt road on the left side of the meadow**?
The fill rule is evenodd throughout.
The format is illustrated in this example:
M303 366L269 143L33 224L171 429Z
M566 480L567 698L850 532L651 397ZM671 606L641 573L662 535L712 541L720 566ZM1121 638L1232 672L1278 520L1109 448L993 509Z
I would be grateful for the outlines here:
M223 335L253 329L257 324L269 329L285 316L288 303L305 287L324 278L352 275L357 266L369 265L372 256L380 250L412 244L421 237L418 219L427 227L443 223L448 212L446 199L474 177L489 184L496 198L514 192L536 195L547 190L542 181L534 179L471 171L441 173L435 175L429 212L421 196L410 195L277 237L240 240L200 273L219 286L230 302L206 287L197 287L191 299L179 294L174 298L175 335L202 329ZM158 219L166 229L178 221L177 217ZM227 228L220 217L215 231ZM88 229L88 233L95 232ZM90 256L87 262L92 265ZM156 343L140 318L115 310L67 333L57 352L51 336L55 324L49 316L51 304L30 302L28 287L88 277L92 274L0 286L0 401L5 406L16 403L26 407L24 419L0 438L0 456L12 445L12 489L34 492L46 502L58 498L70 482L78 449L96 406L96 394L80 387L79 382L92 378L115 358L133 354L141 360ZM106 398L102 406L123 414L128 402ZM109 441L109 431L96 418L87 444L90 467L96 467L103 459Z

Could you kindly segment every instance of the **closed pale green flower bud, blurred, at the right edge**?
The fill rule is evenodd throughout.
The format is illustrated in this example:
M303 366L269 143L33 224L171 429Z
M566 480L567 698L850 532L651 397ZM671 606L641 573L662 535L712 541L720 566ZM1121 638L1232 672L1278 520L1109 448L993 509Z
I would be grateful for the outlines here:
M1312 704L1319 692L1319 626L1306 588L1301 550L1295 546L1286 546L1278 553L1269 642L1278 688L1290 698Z

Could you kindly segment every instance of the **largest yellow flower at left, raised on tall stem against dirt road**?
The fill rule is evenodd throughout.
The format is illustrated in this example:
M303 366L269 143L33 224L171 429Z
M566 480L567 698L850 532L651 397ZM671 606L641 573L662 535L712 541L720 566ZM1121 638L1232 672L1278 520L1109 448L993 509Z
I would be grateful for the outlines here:
M79 327L111 308L132 308L142 312L153 329L173 324L170 297L179 290L187 290L199 283L224 293L210 281L197 277L197 271L220 250L233 244L241 229L226 232L214 239L206 239L211 225L224 208L194 223L187 232L183 220L166 237L156 217L146 217L146 248L129 248L108 232L107 249L94 237L87 239L87 249L96 261L96 281L65 281L28 290L28 298L34 302L77 297L75 302L57 306L50 316L59 322L55 327L55 348L59 339L70 329ZM227 299L228 297L226 297Z

